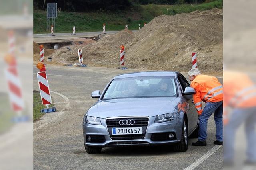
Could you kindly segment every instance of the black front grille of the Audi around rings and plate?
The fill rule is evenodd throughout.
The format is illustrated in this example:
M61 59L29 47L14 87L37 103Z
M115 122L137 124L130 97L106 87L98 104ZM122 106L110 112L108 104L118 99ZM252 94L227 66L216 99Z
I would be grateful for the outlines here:
M131 120L135 121L134 125L120 125L120 120ZM112 140L137 140L137 139L144 139L146 134L146 129L148 127L148 117L126 117L126 118L113 118L107 119L106 124L108 127L108 131L110 134L110 138ZM129 135L112 135L112 128L113 127L142 127L143 133L142 134L129 134Z

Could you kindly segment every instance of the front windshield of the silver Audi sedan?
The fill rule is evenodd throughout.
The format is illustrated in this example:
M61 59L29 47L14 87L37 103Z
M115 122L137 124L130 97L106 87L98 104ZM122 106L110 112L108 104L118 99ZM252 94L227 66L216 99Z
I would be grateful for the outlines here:
M176 96L173 76L145 76L114 79L104 94L103 100Z

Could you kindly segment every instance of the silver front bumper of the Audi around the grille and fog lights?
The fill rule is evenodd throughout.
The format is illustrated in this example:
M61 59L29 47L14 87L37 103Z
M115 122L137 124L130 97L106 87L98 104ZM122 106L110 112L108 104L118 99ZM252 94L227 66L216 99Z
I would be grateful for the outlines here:
M155 117L149 117L148 127L144 139L136 140L112 140L110 138L106 119L100 119L102 125L83 124L84 143L88 146L95 147L116 147L116 146L131 146L131 145L163 145L177 143L181 139L182 123L178 123L178 119L168 122L154 123ZM152 141L152 134L155 133L173 133L175 138L173 140ZM104 135L105 142L88 142L86 135Z

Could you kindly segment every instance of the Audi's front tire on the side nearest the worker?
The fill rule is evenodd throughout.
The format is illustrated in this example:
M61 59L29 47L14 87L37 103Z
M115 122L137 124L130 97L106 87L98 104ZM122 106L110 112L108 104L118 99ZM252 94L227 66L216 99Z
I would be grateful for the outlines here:
M182 134L181 134L181 140L179 143L177 143L174 146L174 151L176 152L186 152L188 150L188 128L187 123L184 118L183 126L182 126ZM186 129L186 133L185 130Z

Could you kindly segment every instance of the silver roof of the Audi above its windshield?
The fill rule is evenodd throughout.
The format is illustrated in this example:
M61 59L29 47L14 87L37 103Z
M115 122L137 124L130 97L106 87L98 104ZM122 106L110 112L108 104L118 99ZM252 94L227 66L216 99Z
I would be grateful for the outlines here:
M126 74L120 74L116 78L128 78L128 77L142 77L142 76L176 76L176 71L145 71L145 72L132 72Z

